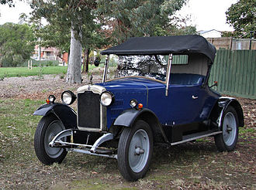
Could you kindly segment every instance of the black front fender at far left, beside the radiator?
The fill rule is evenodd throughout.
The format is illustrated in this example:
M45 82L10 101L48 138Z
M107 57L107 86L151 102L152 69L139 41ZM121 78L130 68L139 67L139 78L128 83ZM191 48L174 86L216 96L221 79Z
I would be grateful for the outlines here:
M33 115L47 116L48 114L54 114L66 128L76 128L77 114L75 111L64 103L49 103L43 104L38 107Z

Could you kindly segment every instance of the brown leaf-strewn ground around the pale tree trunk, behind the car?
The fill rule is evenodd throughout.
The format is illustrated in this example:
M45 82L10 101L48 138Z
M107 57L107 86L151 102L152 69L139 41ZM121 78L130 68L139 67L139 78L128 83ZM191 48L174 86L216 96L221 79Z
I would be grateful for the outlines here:
M61 75L43 75L28 77L10 77L0 81L0 98L17 98L17 99L36 99L41 100L47 98L50 94L56 97L64 90L76 90L88 83L88 76L82 76L83 83L68 85L65 79L61 79ZM93 76L93 83L101 81L100 76Z

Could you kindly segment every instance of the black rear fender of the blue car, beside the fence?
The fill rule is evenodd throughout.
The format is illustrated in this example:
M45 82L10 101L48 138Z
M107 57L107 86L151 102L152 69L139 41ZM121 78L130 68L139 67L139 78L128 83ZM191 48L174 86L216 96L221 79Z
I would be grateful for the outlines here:
M233 97L220 97L211 113L211 115L216 115L218 117L217 124L219 129L222 130L223 114L229 106L234 107L237 111L238 126L244 127L244 112L238 100Z

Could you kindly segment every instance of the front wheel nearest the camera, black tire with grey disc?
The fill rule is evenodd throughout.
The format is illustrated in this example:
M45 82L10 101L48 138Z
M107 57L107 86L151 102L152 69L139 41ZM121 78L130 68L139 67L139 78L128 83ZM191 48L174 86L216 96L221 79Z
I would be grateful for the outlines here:
M147 173L153 152L153 134L144 120L125 127L118 144L119 171L127 181L136 181Z

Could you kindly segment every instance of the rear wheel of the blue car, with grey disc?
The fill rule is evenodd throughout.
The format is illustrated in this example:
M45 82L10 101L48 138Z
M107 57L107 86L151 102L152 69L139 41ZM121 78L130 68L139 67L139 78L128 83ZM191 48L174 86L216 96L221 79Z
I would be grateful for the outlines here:
M238 137L238 117L234 107L227 107L222 118L222 134L214 136L218 151L234 151Z

